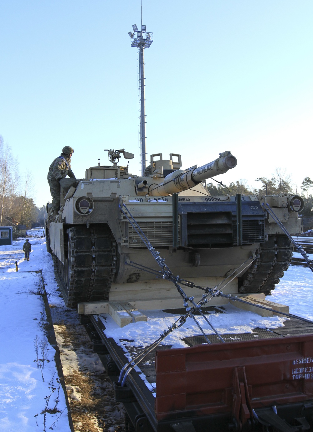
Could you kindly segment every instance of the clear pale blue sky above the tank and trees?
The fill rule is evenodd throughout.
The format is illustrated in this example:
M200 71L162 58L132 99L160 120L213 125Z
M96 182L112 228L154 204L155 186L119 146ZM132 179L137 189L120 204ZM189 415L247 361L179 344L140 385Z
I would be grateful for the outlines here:
M313 178L312 22L312 0L143 0L147 159L230 150L238 165L217 180L256 187L281 168L299 192ZM64 145L77 178L108 148L133 152L139 174L135 23L140 0L0 0L0 134L38 206Z

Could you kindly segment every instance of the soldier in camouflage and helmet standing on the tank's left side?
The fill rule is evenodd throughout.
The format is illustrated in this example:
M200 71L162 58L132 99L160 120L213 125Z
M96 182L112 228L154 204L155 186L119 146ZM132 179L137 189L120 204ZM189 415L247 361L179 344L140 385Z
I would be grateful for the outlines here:
M49 172L48 172L48 183L50 186L50 193L52 196L52 213L56 215L60 210L60 194L61 194L61 186L59 181L66 177L75 178L75 175L70 167L70 158L73 154L74 150L70 146L65 146L62 149L61 156L58 156L51 163Z

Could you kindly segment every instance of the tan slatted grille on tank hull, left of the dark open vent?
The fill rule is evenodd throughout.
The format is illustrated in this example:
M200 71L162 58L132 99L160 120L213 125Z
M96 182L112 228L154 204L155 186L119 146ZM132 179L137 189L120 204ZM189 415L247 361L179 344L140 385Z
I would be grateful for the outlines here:
M173 245L173 224L172 221L147 221L137 222L151 245L154 247L172 246ZM178 234L179 232L178 226ZM178 237L179 238L179 237ZM143 248L144 242L137 232L128 223L128 245L130 248Z

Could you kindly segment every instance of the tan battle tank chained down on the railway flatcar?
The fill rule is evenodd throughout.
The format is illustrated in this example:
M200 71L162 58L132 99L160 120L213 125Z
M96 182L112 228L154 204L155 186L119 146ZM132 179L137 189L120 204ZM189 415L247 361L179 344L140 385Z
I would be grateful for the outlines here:
M299 196L212 197L205 180L236 167L229 151L212 162L182 170L179 154L151 155L144 176L131 175L108 151L111 165L86 169L86 178L62 179L61 210L47 204L47 249L64 301L127 301L137 308L181 308L175 286L163 279L131 216L160 252L173 275L224 293L264 293L279 283L291 263L290 239L264 210L267 203L287 232L301 232ZM129 163L129 162L128 162ZM222 304L216 298L211 305ZM227 299L226 299L227 301Z

